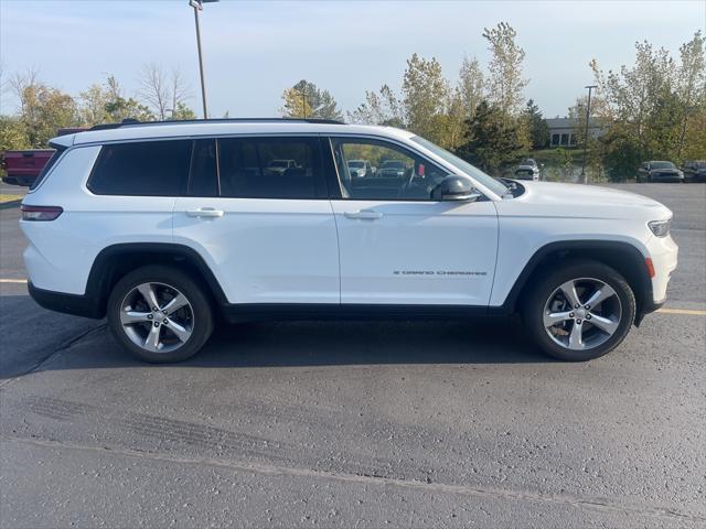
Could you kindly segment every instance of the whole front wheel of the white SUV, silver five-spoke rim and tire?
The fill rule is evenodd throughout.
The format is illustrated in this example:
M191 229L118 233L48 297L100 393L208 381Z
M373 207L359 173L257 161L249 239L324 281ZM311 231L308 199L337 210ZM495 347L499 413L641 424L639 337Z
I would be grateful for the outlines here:
M569 261L528 292L523 316L545 353L561 360L590 360L628 335L635 319L635 298L612 268L597 261Z

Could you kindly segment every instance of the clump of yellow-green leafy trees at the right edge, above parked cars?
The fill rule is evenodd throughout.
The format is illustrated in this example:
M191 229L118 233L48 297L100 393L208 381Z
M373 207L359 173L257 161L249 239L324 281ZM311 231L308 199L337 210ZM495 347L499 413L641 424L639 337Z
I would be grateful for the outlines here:
M675 162L685 155L706 158L706 66L700 32L680 50L677 63L664 48L635 43L635 62L619 72L593 71L599 100L597 117L607 129L601 139L605 163L614 180L634 174L645 160ZM692 127L696 133L692 132Z

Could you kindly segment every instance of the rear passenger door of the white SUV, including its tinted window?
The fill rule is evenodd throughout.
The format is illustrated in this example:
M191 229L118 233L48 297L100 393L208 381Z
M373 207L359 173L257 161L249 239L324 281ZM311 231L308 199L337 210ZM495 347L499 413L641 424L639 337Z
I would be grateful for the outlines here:
M286 170L274 160L293 160ZM318 137L197 140L174 241L194 248L231 303L340 302L335 222Z

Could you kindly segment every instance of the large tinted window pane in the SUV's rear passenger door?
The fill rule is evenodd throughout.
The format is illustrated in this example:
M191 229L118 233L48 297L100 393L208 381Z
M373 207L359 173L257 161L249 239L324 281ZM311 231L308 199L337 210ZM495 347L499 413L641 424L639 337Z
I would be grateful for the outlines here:
M229 198L327 196L318 138L220 139L218 180Z

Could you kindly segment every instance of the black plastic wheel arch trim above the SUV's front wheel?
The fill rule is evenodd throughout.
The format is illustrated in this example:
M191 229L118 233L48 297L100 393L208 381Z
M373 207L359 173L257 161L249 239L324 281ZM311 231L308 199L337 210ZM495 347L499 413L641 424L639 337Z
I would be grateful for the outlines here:
M625 278L638 304L635 325L640 324L645 307L652 301L652 281L645 266L645 256L633 245L613 240L567 240L549 242L530 258L502 304L505 313L514 313L523 294L533 284L532 279L567 258L585 258L602 262Z

